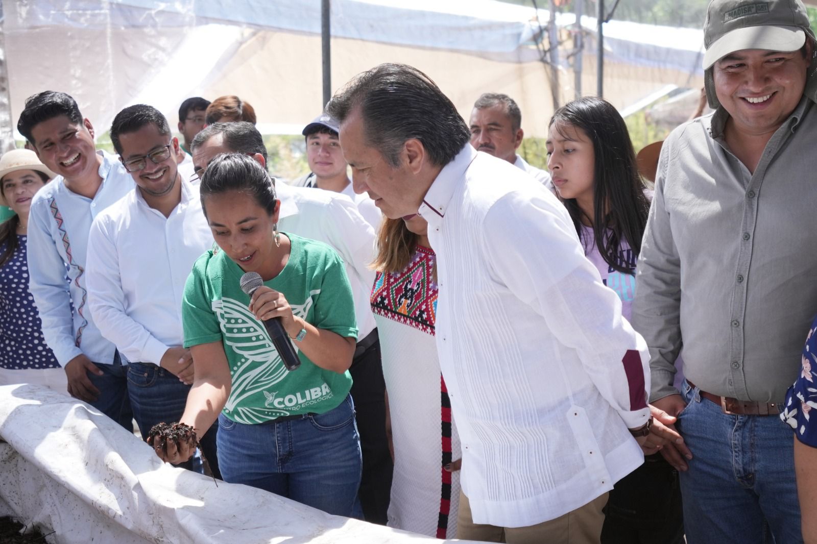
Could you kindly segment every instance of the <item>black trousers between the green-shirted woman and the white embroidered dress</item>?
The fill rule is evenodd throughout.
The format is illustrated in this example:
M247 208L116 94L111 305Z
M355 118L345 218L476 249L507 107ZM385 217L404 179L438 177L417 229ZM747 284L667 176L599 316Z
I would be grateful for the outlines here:
M354 380L350 392L355 401L355 419L363 452L358 496L364 519L385 525L394 466L386 438L386 381L383 381L377 329L358 344L359 349L355 351L349 369Z

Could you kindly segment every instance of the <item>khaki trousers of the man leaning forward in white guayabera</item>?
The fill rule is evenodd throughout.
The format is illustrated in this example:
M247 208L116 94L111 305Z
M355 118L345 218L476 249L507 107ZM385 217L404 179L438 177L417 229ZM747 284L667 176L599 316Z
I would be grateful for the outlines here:
M506 544L599 544L601 526L605 523L601 510L607 504L608 495L605 493L574 511L541 524L507 528L475 524L471 519L471 504L461 491L457 537Z

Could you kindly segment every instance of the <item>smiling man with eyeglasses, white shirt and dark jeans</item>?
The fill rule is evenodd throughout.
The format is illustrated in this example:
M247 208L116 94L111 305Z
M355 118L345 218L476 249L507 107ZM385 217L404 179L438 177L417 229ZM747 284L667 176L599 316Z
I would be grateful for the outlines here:
M178 421L185 409L194 368L182 347L181 297L193 263L213 239L199 191L177 171L179 141L163 114L129 106L114 118L110 140L136 189L91 226L88 306L102 336L130 361L128 395L147 439L151 427ZM218 476L215 434L209 430L201 443Z

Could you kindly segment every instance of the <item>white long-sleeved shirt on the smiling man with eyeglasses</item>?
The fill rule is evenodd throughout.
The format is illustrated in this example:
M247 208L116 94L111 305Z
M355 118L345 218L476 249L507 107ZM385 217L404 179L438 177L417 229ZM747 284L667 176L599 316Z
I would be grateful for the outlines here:
M161 362L181 346L181 298L193 263L212 248L199 191L181 181L167 218L140 190L96 217L88 241L88 305L102 335L128 360Z

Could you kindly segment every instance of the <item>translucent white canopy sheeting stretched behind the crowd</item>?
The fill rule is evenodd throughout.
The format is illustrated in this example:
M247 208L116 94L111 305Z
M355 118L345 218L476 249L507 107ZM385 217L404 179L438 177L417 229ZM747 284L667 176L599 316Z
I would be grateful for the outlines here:
M266 133L299 133L322 107L320 0L2 0L2 14L7 144L25 98L46 89L74 96L97 133L139 102L175 124L188 96L239 95ZM484 91L513 96L526 134L543 136L553 106L532 40L549 17L493 0L333 0L333 87L382 62L404 62L434 78L466 117ZM565 38L575 17L557 14L556 23ZM592 38L596 20L583 17L582 26ZM610 21L605 97L623 109L668 84L701 86L702 46L699 30ZM588 40L586 94L596 88L594 51ZM560 96L569 100L573 88Z

